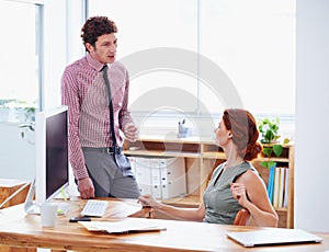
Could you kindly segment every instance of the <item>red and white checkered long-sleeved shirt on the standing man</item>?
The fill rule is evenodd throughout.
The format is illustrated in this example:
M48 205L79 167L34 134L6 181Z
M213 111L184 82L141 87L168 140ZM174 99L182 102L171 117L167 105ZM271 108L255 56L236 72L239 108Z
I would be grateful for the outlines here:
M66 67L61 78L61 104L68 105L69 160L77 180L88 176L81 147L111 147L110 108L102 73L103 65L89 54ZM127 110L129 78L122 64L109 65L116 142L120 129L132 117Z

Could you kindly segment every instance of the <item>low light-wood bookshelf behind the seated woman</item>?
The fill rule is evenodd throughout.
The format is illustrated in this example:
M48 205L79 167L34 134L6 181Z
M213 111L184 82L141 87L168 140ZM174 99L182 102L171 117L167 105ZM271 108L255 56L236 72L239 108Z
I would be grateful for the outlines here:
M166 204L181 207L196 207L213 170L226 160L222 148L214 140L200 138L163 138L160 136L140 137L136 142L125 142L124 152L132 157L183 157L185 159L186 191L184 197L163 199ZM269 158L258 158L253 165L265 184L269 183L269 169L260 164ZM271 157L277 165L290 169L287 207L275 207L280 217L279 227L294 227L294 145L283 145L281 157Z

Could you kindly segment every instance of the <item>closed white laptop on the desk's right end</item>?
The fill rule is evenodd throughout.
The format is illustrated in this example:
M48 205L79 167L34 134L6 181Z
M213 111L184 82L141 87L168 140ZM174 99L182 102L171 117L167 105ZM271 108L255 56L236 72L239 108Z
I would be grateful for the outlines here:
M322 238L300 229L273 228L253 231L227 232L228 238L243 247L313 243L321 242Z

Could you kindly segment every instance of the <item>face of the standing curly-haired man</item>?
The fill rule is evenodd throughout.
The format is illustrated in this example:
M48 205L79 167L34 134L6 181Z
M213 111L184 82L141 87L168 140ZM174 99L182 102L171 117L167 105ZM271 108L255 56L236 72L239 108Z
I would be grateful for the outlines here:
M112 64L116 56L117 38L114 33L104 34L98 37L94 47L87 45L90 56L102 64Z

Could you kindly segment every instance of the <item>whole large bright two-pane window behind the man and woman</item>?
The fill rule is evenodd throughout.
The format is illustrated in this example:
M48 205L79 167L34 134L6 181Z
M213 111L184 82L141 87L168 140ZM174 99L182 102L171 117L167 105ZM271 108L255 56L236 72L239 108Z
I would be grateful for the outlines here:
M215 126L232 106L294 118L295 0L93 0L91 15L118 26L135 118Z

